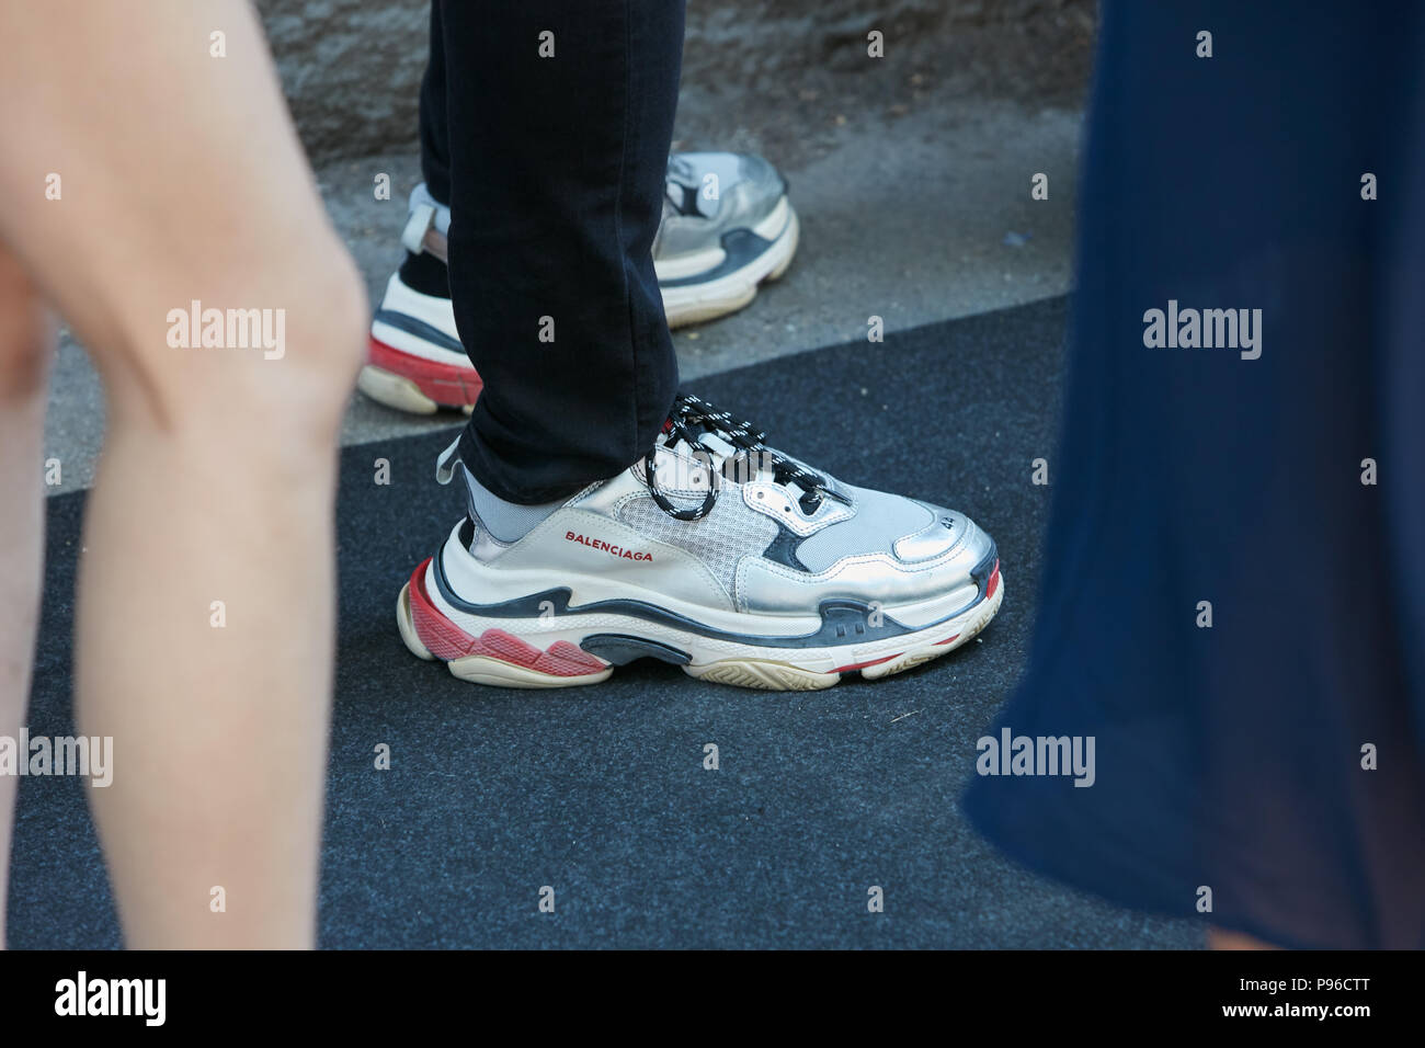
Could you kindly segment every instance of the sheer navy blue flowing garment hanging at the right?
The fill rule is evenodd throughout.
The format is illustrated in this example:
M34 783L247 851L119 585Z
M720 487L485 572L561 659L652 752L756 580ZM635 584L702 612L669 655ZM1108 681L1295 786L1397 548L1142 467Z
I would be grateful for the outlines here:
M966 811L1120 904L1425 947L1425 7L1106 3L1099 47L1043 592L988 731L1093 736L1096 780ZM1170 301L1261 309L1260 356L1144 345Z

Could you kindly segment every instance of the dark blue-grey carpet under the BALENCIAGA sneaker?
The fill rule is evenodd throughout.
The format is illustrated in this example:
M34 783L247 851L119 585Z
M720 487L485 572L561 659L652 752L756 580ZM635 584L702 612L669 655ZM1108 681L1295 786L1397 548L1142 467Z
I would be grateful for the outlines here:
M1025 659L1047 500L1030 462L1053 456L1064 309L1052 299L690 386L812 465L962 509L999 542L1006 602L979 642L884 682L770 694L644 662L570 692L462 683L412 657L393 619L402 582L460 513L433 482L449 436L346 449L322 945L1197 945L1187 924L1009 865L956 810ZM372 483L378 458L389 486ZM83 500L50 500L37 734L73 731ZM389 771L373 769L380 743ZM703 769L707 743L718 771ZM11 947L120 942L87 788L23 780ZM554 914L539 913L543 885ZM882 914L866 910L871 885Z

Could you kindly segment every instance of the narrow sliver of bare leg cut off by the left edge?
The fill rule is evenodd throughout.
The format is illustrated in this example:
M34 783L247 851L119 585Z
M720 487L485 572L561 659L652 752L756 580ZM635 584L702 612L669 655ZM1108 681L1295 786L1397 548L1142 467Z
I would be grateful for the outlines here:
M40 613L46 376L53 339L40 299L0 244L0 736L24 721ZM0 776L0 950L19 780Z

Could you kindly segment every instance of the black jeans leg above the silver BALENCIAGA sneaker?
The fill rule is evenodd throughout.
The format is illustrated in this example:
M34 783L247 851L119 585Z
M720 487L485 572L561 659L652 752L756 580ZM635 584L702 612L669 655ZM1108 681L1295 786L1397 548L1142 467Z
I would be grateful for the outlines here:
M673 405L651 247L683 20L683 0L432 4L420 161L450 205L456 327L484 381L460 458L503 499L616 475Z

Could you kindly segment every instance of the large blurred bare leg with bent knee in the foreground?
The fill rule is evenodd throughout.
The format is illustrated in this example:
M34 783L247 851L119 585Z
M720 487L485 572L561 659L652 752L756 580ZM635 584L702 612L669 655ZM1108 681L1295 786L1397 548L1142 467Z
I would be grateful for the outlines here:
M108 398L76 689L127 941L311 945L361 281L247 3L3 4L0 40L0 240ZM285 352L170 345L194 299L282 311Z

